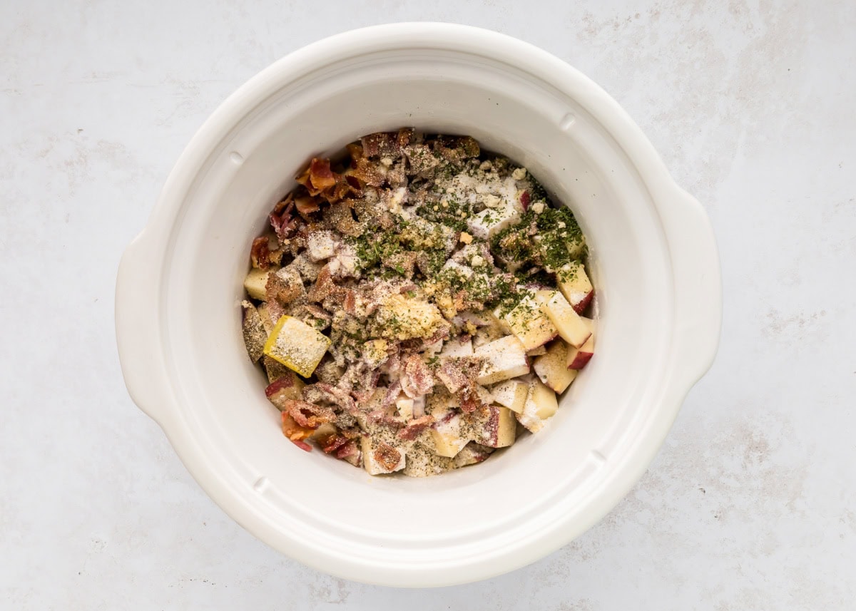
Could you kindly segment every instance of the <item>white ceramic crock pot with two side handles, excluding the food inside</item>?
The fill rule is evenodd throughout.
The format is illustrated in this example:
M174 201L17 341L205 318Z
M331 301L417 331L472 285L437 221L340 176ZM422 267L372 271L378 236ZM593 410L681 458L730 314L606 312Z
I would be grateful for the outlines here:
M470 134L570 205L600 317L597 354L548 427L426 479L287 442L240 330L250 242L295 172L402 126ZM438 23L324 39L241 86L175 163L116 285L128 391L211 498L298 561L398 586L507 572L603 518L710 367L721 317L710 223L618 104L531 44Z

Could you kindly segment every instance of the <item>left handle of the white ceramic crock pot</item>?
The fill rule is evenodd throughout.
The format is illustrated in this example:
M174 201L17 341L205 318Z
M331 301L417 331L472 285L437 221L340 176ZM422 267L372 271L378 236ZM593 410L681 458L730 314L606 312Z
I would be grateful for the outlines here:
M158 324L158 266L146 256L144 234L122 254L116 276L116 345L134 403L164 428L171 412Z

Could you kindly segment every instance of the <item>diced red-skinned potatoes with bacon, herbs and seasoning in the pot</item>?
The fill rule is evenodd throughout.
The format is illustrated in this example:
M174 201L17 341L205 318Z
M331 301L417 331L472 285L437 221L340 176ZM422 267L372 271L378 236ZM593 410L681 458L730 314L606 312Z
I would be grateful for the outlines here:
M594 353L573 212L476 140L413 129L297 181L253 240L242 302L285 436L424 477L541 430Z

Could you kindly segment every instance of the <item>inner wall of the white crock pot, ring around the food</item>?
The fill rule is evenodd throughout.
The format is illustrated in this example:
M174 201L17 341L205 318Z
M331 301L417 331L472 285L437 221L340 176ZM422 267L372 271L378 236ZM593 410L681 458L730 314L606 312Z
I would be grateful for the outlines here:
M412 125L468 133L526 165L572 207L590 239L601 312L597 357L537 436L437 478L371 478L282 436L241 341L250 241L313 155L364 133ZM238 152L242 161L236 163ZM181 418L248 502L306 527L418 547L498 531L547 505L581 501L608 472L669 345L668 254L644 187L585 110L490 60L422 53L357 58L283 87L209 159L175 228L163 319ZM253 484L266 478L259 485ZM286 515L288 514L288 519Z

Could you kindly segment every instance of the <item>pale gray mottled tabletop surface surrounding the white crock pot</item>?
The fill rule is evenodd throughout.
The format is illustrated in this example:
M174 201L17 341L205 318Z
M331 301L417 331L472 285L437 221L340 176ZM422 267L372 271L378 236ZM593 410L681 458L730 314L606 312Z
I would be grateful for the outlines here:
M31 4L0 4L0 608L853 608L856 3ZM716 365L631 495L531 567L421 593L232 523L128 399L112 326L118 258L205 116L289 50L402 20L601 83L704 202L725 278Z

